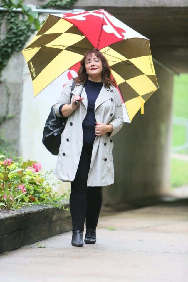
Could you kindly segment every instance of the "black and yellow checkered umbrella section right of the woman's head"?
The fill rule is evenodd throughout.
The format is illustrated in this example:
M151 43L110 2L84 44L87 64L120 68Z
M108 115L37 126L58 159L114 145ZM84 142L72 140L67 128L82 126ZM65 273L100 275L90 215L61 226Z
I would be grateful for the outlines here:
M149 41L130 38L100 50L125 102L130 121L158 88Z

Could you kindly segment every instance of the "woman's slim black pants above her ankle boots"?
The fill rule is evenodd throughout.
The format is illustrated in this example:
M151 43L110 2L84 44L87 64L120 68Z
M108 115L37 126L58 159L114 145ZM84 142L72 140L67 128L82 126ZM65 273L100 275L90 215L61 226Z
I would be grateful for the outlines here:
M72 216L72 230L84 230L86 227L97 227L102 205L102 187L87 186L88 173L91 163L93 145L83 143L78 170L71 182L70 213ZM97 177L97 175L96 175Z

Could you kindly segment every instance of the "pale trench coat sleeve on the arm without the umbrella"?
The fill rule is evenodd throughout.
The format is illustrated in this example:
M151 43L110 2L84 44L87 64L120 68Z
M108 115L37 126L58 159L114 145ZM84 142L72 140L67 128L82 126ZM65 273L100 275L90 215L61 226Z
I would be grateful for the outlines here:
M124 123L122 100L116 88L114 91L114 100L115 100L115 113L114 113L113 119L110 122L110 124L113 126L113 130L111 134L108 134L109 136L115 135L122 128L123 123Z

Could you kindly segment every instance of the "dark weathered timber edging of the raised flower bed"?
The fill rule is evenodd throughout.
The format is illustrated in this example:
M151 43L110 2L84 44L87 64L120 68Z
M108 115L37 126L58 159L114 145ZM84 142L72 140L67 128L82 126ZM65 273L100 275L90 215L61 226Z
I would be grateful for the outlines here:
M69 202L64 206L68 208ZM0 254L71 230L68 210L47 205L0 210Z

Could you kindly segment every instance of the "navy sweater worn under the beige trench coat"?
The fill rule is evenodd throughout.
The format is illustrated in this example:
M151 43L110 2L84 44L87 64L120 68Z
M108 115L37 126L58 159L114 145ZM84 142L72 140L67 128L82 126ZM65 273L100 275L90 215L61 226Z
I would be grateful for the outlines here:
M91 80L87 80L84 88L88 98L88 110L85 116L85 119L82 122L83 129L83 142L93 144L95 140L95 101L100 93L101 88L103 87L103 82L94 82ZM61 116L61 109L63 107L62 104L59 107L59 113Z

